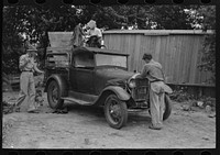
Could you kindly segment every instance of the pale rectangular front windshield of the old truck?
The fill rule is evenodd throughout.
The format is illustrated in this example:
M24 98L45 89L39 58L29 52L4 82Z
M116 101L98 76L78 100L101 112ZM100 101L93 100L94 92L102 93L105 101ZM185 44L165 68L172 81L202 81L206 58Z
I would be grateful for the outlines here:
M119 66L127 68L127 56L96 54L97 66Z

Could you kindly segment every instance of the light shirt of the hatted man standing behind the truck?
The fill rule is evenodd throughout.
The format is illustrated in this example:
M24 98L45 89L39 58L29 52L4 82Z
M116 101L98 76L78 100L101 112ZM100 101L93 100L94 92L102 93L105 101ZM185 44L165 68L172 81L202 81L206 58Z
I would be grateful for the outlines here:
M19 68L21 70L34 70L34 58L30 57L28 54L24 54L20 57Z

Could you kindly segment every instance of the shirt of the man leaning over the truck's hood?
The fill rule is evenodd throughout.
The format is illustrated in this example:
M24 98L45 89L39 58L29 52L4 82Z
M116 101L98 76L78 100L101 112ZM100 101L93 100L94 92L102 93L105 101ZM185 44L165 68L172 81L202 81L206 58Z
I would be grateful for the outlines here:
M148 64L144 65L141 73L141 77L142 78L146 77L150 81L164 80L162 65L152 59Z

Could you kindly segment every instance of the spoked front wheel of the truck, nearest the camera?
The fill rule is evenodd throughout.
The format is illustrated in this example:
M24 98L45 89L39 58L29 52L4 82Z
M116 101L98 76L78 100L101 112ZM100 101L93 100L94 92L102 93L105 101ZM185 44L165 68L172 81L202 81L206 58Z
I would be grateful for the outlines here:
M127 124L128 108L116 95L110 95L106 99L105 115L109 125L113 129L121 129Z

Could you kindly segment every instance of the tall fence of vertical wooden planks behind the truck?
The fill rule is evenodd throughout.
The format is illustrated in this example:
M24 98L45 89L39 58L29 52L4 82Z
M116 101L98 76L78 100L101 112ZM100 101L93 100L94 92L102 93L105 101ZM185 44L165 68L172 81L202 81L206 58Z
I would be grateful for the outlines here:
M211 74L200 71L201 52L205 34L201 30L118 30L103 32L108 49L130 54L129 70L141 71L144 53L151 53L164 68L167 82L204 84Z

